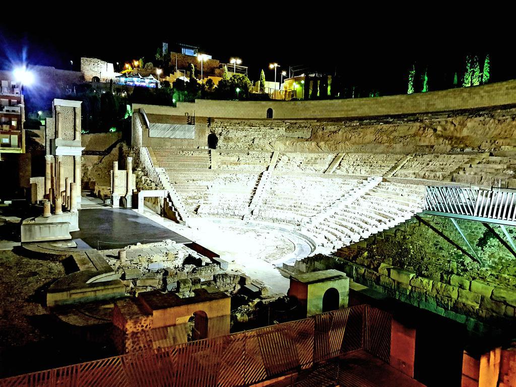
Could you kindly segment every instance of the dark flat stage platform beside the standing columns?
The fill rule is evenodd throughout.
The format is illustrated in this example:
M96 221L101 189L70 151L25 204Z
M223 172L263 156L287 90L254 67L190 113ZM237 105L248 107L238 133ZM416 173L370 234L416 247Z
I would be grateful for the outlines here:
M73 239L82 239L91 248L101 250L122 248L136 243L153 243L172 239L176 243L191 240L125 208L95 208L79 210L79 231Z

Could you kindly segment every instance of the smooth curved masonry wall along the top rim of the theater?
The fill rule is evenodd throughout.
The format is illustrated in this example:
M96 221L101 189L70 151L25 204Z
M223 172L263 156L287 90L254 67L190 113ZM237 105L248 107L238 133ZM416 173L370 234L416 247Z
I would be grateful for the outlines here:
M267 109L272 108L274 119L313 119L396 116L514 104L516 104L516 80L376 98L294 102L196 100L195 103L178 102L175 108L134 104L133 109L144 106L145 110L151 114L266 119Z

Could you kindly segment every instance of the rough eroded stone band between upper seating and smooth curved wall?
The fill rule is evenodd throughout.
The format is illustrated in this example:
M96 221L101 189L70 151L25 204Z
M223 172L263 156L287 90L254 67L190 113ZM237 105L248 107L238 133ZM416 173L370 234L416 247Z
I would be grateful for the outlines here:
M516 146L516 108L370 120L215 120L217 148L294 152L504 151Z

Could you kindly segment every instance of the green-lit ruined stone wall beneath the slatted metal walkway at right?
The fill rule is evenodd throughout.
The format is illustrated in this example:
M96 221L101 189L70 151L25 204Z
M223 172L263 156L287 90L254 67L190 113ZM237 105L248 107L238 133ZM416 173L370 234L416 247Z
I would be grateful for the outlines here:
M337 268L358 283L460 322L472 330L513 324L516 257L498 227L457 220L473 252L448 218L424 216L366 247L336 257L309 257L291 271ZM516 228L507 227L514 238ZM477 257L478 256L478 257Z

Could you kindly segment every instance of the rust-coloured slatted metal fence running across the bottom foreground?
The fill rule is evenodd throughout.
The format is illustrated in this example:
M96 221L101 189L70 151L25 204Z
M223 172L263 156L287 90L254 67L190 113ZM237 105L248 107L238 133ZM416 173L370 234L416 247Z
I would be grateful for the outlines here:
M174 347L0 379L14 386L237 387L365 350L389 362L391 316L368 305Z

